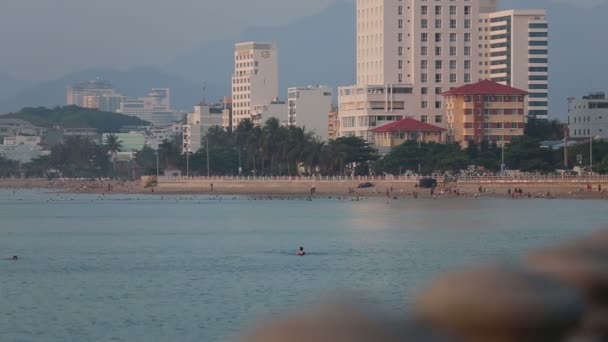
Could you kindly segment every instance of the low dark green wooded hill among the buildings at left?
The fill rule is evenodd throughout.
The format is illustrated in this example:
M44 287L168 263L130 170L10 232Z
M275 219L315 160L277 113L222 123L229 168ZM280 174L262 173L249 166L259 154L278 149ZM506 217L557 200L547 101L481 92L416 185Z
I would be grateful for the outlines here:
M148 126L149 122L133 116L101 112L96 109L65 106L23 108L2 118L21 119L38 127L95 128L100 133L118 132L124 126Z

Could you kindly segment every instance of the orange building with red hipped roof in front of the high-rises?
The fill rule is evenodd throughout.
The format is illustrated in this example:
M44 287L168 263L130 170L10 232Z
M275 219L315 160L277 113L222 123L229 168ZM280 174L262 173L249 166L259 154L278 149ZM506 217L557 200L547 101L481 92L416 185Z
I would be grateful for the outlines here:
M446 99L448 137L467 147L469 141L508 144L524 135L528 93L489 80L442 94Z

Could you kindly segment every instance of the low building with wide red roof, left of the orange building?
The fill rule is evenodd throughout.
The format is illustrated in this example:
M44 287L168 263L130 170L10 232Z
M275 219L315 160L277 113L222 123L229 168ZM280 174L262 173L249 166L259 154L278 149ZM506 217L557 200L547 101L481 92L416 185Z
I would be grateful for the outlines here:
M395 121L372 130L374 146L381 154L406 141L443 143L445 128L431 125L412 118Z

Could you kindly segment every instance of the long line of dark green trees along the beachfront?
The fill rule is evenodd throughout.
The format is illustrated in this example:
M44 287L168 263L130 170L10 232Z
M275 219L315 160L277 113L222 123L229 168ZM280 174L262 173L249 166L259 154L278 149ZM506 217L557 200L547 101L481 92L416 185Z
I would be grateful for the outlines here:
M563 149L542 148L540 140L524 136L514 139L504 150L487 141L461 149L458 144L406 142L388 155L380 156L359 137L321 141L299 127L281 126L276 119L264 126L241 122L232 132L212 127L202 147L190 154L182 151L181 137L164 141L158 150L144 147L130 161L115 157L122 144L109 135L103 144L86 137L68 137L51 148L48 156L27 164L0 156L0 177L127 178L155 175L167 169L190 176L365 176L399 175L408 172L459 173L471 165L488 172L508 169L551 173L564 166ZM608 173L608 142L593 143L594 171ZM568 148L568 165L588 165L589 144Z

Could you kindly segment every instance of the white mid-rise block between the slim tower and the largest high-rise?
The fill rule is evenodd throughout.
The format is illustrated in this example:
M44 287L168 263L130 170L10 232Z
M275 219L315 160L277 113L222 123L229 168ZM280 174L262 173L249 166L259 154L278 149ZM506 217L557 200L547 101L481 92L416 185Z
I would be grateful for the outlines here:
M304 127L323 140L329 139L327 115L332 110L332 90L326 86L287 90L287 125Z

